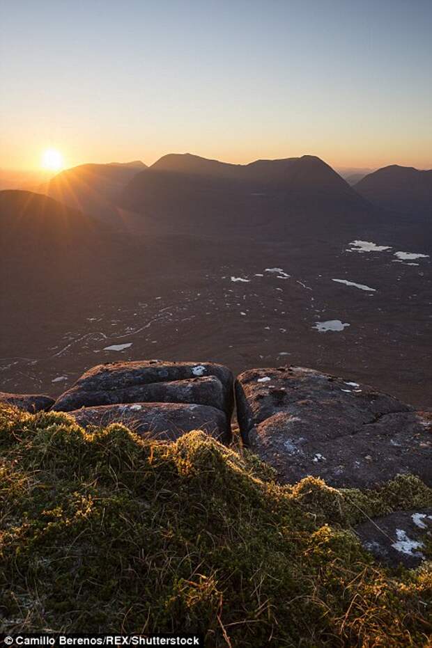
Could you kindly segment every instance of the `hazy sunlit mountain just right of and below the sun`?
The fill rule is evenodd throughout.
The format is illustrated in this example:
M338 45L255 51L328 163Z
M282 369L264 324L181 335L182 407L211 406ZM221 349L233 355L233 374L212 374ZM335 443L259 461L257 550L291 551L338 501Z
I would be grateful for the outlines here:
M109 219L115 212L113 200L144 168L146 165L141 161L82 164L61 171L39 191L69 207Z

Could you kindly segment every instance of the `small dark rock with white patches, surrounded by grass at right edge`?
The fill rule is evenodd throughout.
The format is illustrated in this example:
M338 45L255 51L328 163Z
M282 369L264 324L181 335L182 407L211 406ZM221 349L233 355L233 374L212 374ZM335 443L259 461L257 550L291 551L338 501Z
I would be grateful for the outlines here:
M426 558L426 542L431 541L432 509L396 511L358 525L355 532L379 562L417 567Z

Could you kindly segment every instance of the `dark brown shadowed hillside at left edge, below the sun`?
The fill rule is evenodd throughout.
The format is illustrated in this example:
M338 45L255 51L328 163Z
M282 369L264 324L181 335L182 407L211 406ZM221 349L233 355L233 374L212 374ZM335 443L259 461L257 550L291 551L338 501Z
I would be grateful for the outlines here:
M92 216L42 194L0 191L1 303L21 340L107 292L121 257L122 242Z

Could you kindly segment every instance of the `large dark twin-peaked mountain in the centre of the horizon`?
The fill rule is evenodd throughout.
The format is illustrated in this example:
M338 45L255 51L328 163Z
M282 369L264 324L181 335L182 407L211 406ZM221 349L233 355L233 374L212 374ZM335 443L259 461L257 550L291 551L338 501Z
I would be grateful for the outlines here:
M119 204L173 230L241 230L279 236L317 216L344 221L366 204L318 157L226 164L196 155L166 155L135 175ZM247 231L245 232L245 228ZM256 229L258 228L258 229Z

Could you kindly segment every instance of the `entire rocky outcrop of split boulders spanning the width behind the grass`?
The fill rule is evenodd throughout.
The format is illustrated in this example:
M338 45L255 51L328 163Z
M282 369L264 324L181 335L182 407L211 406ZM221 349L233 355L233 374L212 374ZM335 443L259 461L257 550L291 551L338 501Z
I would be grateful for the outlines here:
M373 488L399 473L432 485L432 414L353 381L311 369L252 369L236 381L242 440L281 483L307 475L334 487ZM54 403L0 395L27 411L65 411L79 425L123 422L173 441L202 429L229 443L233 375L215 363L157 360L98 365Z

